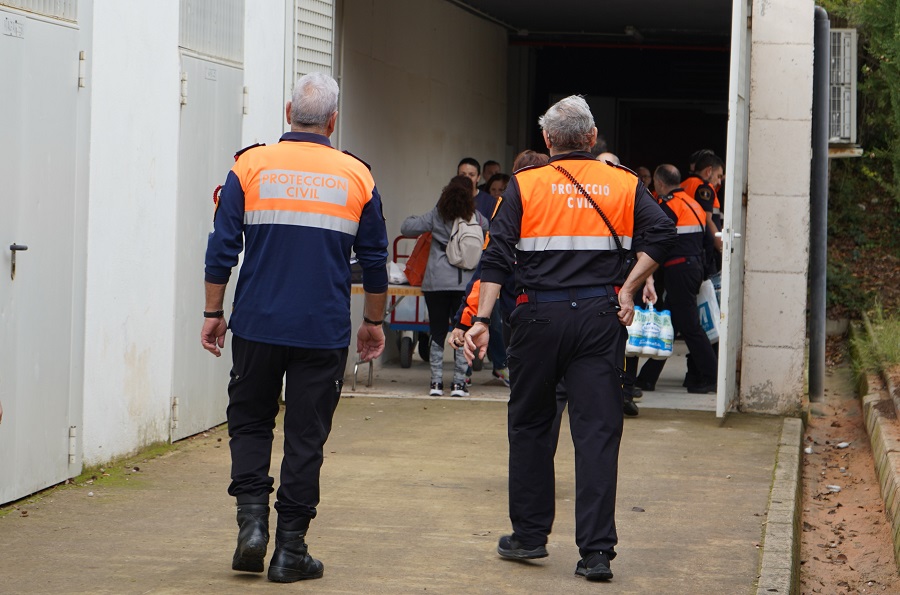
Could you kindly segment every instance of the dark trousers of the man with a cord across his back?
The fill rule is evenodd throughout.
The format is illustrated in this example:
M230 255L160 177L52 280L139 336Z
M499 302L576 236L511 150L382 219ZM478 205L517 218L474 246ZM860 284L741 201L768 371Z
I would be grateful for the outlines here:
M615 297L527 303L510 315L509 516L525 545L543 545L555 516L557 384L565 377L575 445L575 541L615 555L626 332Z

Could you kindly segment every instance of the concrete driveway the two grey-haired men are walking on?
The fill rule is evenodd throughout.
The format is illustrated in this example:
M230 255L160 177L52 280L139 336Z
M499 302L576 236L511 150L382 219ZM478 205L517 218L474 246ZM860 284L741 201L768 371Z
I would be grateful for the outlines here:
M781 420L734 415L722 425L708 412L644 409L625 425L609 584L573 574L565 424L550 557L514 563L495 552L509 531L502 399L356 396L338 408L308 539L323 579L279 585L231 571L236 525L219 428L130 460L139 471L127 479L17 503L0 517L0 592L754 592Z

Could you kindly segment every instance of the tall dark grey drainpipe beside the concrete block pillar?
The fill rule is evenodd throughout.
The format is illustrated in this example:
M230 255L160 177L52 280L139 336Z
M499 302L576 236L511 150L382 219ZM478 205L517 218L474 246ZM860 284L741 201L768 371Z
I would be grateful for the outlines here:
M809 400L825 396L825 291L828 262L828 96L831 77L831 22L815 9L813 66L812 177L809 219Z

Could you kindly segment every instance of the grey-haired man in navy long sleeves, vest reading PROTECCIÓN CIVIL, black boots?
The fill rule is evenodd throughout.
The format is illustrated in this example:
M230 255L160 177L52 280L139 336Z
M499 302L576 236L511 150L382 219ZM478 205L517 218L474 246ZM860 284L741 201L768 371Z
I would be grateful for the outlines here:
M363 268L364 316L356 351L384 350L387 231L368 166L331 147L338 86L329 76L297 81L278 144L235 155L216 204L206 250L203 348L221 355L231 329L228 435L238 544L232 568L262 572L269 541L272 430L284 385L284 460L268 578L319 578L305 542L319 503L322 448L341 396L350 343L350 253ZM225 322L225 285L244 262Z

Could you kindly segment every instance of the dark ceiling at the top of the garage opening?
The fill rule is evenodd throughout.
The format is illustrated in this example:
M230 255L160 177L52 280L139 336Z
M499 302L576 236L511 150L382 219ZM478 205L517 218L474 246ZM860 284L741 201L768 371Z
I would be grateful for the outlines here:
M727 44L727 0L448 0L507 28L513 42Z

